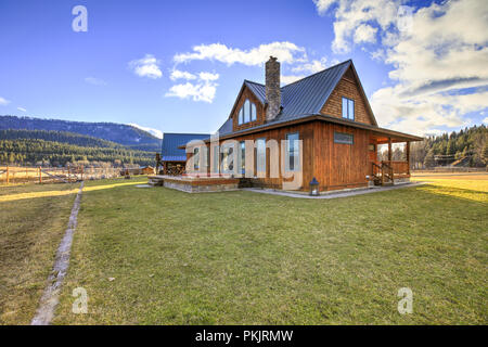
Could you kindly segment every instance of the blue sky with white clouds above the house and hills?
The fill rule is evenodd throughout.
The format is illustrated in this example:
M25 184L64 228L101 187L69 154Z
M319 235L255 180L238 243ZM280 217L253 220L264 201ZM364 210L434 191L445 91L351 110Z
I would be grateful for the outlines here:
M88 11L88 31L72 28L76 5ZM352 59L381 126L459 129L488 119L487 8L483 0L0 0L0 114L210 132L243 79L264 81L273 54L285 82Z

